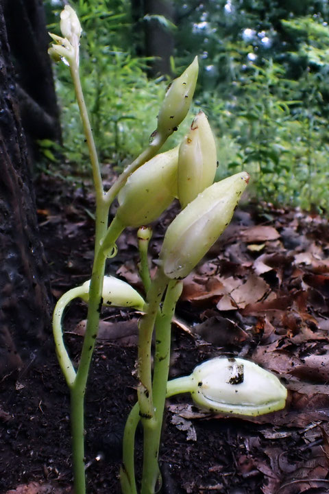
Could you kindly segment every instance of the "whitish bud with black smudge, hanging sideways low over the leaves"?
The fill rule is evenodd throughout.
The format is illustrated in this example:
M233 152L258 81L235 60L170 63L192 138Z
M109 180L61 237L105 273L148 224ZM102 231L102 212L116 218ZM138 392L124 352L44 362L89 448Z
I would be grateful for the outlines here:
M169 381L167 395L191 392L211 412L257 416L284 408L287 389L278 377L254 362L218 357L195 367L187 377Z

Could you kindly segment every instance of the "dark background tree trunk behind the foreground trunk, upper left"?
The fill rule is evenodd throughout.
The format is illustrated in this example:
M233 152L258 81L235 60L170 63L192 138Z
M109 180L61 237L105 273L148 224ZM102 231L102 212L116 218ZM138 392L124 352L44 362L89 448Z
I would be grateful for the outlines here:
M34 157L37 139L60 140L44 5L42 0L5 0L3 14L21 120Z

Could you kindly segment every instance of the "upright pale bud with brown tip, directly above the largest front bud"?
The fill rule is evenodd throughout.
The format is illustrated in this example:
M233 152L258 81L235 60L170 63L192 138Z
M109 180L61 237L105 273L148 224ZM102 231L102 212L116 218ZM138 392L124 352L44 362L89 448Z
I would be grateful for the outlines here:
M217 168L215 139L208 119L200 111L180 145L178 198L182 208L212 185Z

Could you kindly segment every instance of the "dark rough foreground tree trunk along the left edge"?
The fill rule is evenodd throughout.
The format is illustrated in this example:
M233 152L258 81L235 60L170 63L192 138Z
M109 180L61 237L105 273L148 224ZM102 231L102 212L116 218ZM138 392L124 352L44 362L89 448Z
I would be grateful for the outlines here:
M50 326L45 259L1 1L0 167L0 375L5 375L30 357Z

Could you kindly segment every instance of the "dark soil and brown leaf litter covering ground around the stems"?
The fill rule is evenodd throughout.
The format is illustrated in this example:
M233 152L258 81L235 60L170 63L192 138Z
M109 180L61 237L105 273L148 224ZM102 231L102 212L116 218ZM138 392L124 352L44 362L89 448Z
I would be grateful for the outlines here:
M40 176L38 217L53 304L90 277L93 196ZM150 245L156 259L175 207ZM107 271L142 290L136 232ZM187 395L167 401L160 464L164 494L329 492L329 226L317 214L249 204L184 281L172 333L171 377L218 355L241 356L280 376L287 408L256 419L205 414ZM151 263L152 270L156 264ZM66 344L78 360L86 307L71 304ZM103 309L86 395L88 493L119 494L121 438L136 401L139 314ZM0 493L71 493L69 392L51 331L0 383ZM141 431L137 438L141 460Z

